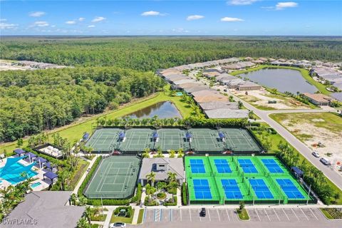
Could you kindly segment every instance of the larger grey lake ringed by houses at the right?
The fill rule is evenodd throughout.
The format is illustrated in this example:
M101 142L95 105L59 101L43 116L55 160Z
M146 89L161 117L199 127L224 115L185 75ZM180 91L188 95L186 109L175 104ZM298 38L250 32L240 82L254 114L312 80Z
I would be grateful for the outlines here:
M242 78L249 78L250 81L266 86L276 88L280 92L300 93L315 93L317 88L306 82L301 76L300 71L290 69L261 69L249 73L240 74Z

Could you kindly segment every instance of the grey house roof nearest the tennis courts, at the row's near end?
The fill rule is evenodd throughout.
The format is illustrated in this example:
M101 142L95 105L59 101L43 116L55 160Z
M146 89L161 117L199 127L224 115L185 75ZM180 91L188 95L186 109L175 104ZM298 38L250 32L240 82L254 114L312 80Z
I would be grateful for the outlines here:
M249 110L229 108L219 108L214 110L204 110L208 118L225 119L225 118L248 118Z

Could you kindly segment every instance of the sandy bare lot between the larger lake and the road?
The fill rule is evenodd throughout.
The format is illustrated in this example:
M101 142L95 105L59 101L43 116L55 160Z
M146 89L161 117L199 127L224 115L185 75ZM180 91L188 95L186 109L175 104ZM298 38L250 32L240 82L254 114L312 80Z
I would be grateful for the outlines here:
M261 90L247 91L233 90L232 93L239 98L246 100L248 103L254 105L261 110L279 110L279 109L306 109L309 105L299 102L294 98L284 97L281 95L274 95L269 93L264 88ZM269 103L269 100L276 100L276 103Z

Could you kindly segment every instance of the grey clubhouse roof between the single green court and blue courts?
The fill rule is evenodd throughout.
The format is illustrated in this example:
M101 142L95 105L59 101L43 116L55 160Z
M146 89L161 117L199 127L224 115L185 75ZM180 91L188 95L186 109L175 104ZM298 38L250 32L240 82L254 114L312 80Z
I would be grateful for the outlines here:
M156 170L157 164L167 164L167 170ZM167 172L175 172L176 179L185 179L183 160L179 157L153 157L144 158L140 169L140 180L146 180L146 175L155 172L155 180L167 180Z

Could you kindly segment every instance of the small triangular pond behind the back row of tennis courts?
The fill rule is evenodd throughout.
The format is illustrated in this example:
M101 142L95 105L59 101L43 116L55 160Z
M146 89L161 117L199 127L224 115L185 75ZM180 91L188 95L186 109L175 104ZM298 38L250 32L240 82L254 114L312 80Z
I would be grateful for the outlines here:
M176 106L170 101L164 101L142 108L134 113L131 113L130 118L152 118L157 115L158 118L182 118Z

